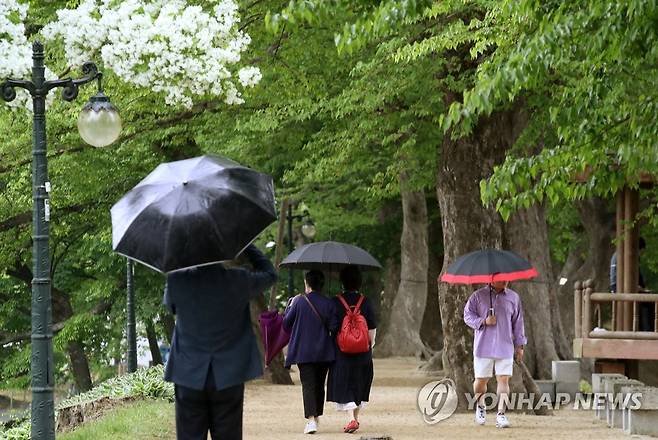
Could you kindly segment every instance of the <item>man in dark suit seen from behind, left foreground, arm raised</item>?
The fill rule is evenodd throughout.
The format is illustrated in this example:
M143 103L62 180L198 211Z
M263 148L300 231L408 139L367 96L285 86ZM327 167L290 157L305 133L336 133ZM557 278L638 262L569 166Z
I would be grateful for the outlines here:
M222 264L167 276L164 303L176 315L165 380L176 392L178 440L242 439L244 383L263 374L249 300L277 280L272 263L253 245L253 270Z

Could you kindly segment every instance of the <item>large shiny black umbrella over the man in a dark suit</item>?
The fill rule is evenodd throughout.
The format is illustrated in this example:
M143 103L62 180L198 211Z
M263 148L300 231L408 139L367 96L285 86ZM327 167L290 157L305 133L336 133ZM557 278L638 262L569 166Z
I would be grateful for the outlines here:
M270 176L201 156L159 165L112 207L112 248L166 273L233 259L275 219Z

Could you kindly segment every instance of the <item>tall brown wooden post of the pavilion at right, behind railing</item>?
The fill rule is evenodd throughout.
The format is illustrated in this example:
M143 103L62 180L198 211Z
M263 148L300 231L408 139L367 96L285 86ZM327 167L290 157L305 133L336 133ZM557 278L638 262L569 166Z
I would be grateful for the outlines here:
M626 187L625 189L625 227L624 227L624 293L637 293L639 283L639 253L638 228L634 225L637 215L639 192ZM633 327L633 312L631 304L624 303L624 331Z

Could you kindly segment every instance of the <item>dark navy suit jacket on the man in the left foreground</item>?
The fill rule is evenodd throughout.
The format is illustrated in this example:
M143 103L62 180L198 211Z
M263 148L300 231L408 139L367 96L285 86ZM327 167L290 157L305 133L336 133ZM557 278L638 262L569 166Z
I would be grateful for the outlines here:
M263 374L249 300L276 282L270 261L253 245L254 270L201 266L167 276L164 303L176 315L165 380L202 390L212 365L218 390Z

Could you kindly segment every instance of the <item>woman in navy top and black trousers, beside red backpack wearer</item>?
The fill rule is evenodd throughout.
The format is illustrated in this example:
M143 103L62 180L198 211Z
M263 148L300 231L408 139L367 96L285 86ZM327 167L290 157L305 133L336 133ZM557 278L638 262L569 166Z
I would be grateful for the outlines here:
M318 430L324 409L324 385L335 359L332 332L338 328L334 302L322 294L324 274L311 270L304 275L305 293L295 296L286 308L283 327L290 334L285 366L297 364L304 400L304 434Z

